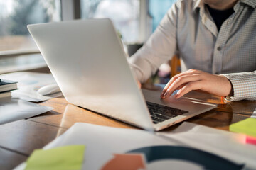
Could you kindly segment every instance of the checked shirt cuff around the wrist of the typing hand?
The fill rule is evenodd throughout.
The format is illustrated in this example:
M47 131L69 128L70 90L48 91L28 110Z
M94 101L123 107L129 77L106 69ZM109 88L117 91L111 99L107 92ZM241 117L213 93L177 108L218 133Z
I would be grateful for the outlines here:
M223 74L233 85L233 96L227 96L228 101L256 100L256 71Z

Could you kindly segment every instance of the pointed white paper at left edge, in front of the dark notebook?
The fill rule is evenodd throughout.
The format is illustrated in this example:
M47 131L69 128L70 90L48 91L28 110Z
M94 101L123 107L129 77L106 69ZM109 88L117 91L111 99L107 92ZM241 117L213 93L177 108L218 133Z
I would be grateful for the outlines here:
M28 101L15 98L0 98L0 125L30 118L50 110L53 110L53 108Z

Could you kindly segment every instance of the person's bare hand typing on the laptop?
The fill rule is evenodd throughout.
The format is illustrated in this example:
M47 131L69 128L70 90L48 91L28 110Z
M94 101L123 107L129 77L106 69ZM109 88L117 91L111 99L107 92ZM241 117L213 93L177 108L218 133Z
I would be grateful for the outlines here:
M177 89L178 92L175 94L175 98L180 98L192 90L206 91L217 96L228 96L232 91L232 84L222 75L189 69L171 78L164 87L161 98L168 98Z

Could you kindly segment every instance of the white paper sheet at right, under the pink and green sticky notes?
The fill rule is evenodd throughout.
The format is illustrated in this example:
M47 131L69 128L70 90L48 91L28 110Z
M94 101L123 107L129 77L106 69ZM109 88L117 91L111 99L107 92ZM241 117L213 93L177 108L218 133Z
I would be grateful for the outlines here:
M187 122L171 133L159 132L158 135L180 145L202 149L245 164L245 169L256 169L256 146L245 144L245 135Z

